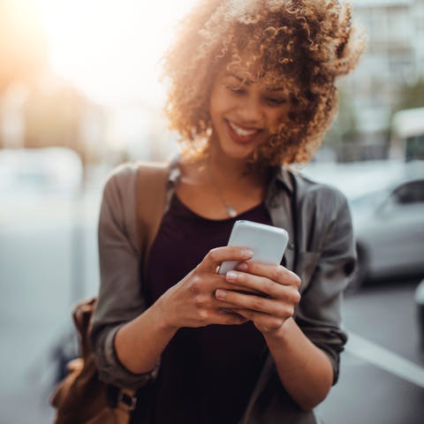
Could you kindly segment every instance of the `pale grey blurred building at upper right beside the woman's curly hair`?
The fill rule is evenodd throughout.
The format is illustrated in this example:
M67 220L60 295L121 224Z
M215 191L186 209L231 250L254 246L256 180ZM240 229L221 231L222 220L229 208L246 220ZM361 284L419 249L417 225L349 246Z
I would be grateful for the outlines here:
M360 157L352 159L381 158L387 155L390 119L403 93L424 79L424 0L351 3L368 38L360 65L340 84L361 148Z

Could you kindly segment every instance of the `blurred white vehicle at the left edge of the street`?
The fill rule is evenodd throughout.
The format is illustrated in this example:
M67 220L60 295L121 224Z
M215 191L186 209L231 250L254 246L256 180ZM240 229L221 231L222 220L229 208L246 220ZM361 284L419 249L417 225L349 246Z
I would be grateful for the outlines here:
M69 148L0 149L0 228L59 225L77 216L83 182Z

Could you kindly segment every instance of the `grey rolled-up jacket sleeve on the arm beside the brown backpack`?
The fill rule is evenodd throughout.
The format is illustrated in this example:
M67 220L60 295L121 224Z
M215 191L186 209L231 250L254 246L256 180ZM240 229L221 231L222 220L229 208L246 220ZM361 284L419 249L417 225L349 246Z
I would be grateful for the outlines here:
M135 375L117 359L114 339L120 326L146 309L141 293L140 242L136 228L136 175L126 164L108 179L98 226L100 292L90 333L102 381L138 389L157 369Z

